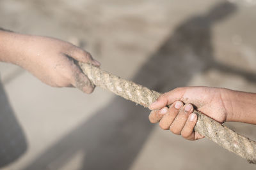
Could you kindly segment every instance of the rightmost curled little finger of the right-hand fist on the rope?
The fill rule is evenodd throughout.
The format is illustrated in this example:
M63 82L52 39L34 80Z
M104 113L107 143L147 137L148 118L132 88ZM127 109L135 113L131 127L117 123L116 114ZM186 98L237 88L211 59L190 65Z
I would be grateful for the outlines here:
M186 139L195 139L194 127L196 125L197 116L195 113L191 113L184 125L182 131L180 132L181 136ZM192 138L191 138L192 137Z

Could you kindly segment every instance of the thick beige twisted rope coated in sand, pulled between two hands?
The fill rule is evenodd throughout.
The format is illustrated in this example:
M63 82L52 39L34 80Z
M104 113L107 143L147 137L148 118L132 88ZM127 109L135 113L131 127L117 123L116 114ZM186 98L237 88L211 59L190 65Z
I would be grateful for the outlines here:
M157 100L161 95L159 92L147 89L132 81L124 80L118 76L102 71L98 67L79 62L83 73L97 86L110 90L125 99L148 106ZM248 162L256 164L256 142L252 141L237 132L228 129L224 125L212 120L199 111L194 111L198 116L195 131L211 139L218 145L234 152Z

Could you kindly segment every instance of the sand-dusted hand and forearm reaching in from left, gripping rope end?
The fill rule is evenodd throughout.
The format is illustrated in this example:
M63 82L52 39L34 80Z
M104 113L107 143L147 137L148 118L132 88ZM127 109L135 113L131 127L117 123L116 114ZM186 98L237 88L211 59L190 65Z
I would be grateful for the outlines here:
M44 36L0 31L0 38L0 61L23 67L52 87L77 87L87 94L93 92L94 85L76 64L81 61L100 66L90 53Z

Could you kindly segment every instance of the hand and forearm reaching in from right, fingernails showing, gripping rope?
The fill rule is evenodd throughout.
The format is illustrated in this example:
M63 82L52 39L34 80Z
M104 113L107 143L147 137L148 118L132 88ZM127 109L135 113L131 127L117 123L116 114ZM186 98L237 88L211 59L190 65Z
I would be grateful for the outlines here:
M220 123L256 124L256 94L212 87L181 87L161 95L150 105L149 120L185 139L204 138L193 130L197 117L192 104Z

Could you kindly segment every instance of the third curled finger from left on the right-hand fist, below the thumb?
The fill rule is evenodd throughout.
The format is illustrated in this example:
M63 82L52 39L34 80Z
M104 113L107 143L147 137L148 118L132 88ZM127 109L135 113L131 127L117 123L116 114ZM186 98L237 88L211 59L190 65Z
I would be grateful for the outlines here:
M170 125L170 131L174 134L180 134L184 125L186 124L186 120L192 112L192 104L185 104L185 106L179 111L179 114L173 121L172 125Z

